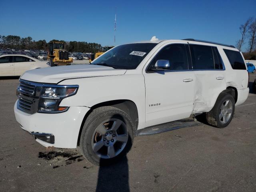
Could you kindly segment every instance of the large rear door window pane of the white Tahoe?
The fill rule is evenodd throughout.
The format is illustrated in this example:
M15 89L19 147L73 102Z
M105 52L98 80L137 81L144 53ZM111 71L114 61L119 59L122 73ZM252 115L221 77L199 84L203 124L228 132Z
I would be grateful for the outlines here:
M191 45L193 70L196 69L215 69L213 51L211 46Z

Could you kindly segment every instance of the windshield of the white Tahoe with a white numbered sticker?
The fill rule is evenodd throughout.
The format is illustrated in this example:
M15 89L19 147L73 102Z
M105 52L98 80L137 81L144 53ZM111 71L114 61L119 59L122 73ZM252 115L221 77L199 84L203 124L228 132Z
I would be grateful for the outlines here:
M112 48L91 64L106 65L117 69L136 69L156 43L134 43Z

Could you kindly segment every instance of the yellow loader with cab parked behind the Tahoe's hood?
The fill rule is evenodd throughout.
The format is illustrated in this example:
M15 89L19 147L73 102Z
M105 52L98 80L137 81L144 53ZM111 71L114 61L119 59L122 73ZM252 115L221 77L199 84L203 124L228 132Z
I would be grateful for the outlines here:
M68 51L63 49L63 43L49 42L48 47L47 58L50 60L51 66L70 65L73 62L73 59L68 57Z

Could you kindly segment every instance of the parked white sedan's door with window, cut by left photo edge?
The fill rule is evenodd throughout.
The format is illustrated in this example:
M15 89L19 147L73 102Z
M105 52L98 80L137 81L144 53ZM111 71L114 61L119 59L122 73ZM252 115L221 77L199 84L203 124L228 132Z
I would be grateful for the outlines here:
M14 63L12 56L3 56L0 58L0 76L13 76Z

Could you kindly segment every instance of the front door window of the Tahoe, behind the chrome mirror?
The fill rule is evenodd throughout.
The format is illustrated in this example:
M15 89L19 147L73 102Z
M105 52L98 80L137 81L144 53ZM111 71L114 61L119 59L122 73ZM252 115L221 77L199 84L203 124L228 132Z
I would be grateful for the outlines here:
M169 60L170 70L188 70L185 44L172 44L164 47L151 61L150 66L154 66L157 60Z

